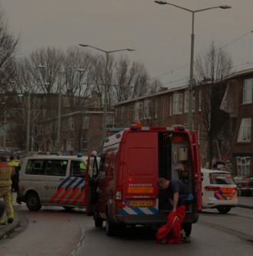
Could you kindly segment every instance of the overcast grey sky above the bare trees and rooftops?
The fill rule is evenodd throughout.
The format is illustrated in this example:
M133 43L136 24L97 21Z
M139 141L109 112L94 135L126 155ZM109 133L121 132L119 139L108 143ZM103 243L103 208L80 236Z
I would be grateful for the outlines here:
M21 35L21 54L40 47L67 49L88 44L145 65L169 88L184 86L190 72L191 12L154 0L0 0L10 29ZM172 0L195 13L195 55L211 41L225 46L236 69L253 62L253 0ZM81 47L81 46L80 46ZM90 49L94 54L99 52ZM101 52L102 53L102 52ZM184 67L185 66L185 67ZM184 68L183 68L184 67ZM175 81L181 82L175 82Z

